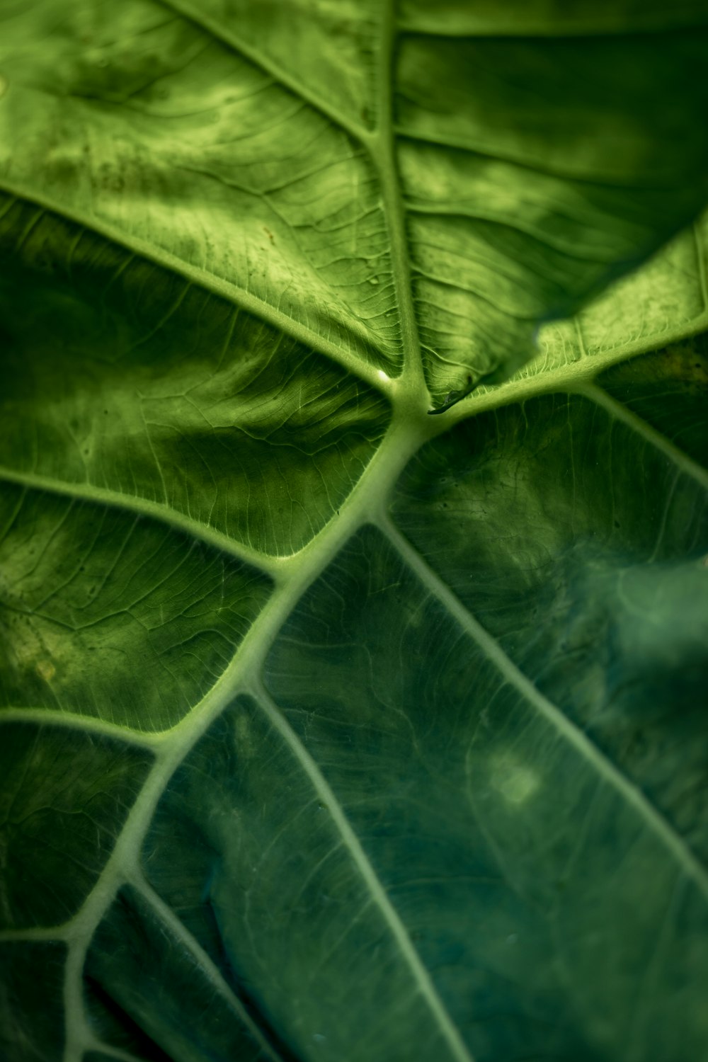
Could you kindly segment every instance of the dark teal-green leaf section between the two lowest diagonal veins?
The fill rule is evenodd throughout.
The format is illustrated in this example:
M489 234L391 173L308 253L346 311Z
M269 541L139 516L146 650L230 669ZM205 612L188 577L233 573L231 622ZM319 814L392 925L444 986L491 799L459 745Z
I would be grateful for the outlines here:
M145 872L298 1059L447 1059L317 781L267 698L238 699L170 783Z

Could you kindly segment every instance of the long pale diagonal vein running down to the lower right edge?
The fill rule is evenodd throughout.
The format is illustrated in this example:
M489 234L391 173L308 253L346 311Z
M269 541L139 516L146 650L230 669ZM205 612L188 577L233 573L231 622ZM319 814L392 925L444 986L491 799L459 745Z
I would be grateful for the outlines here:
M611 760L603 755L600 749L564 715L557 705L543 697L533 682L506 655L497 639L482 627L437 572L413 549L395 524L386 517L380 521L380 528L426 589L445 606L462 630L479 646L487 660L497 668L504 682L516 689L539 715L547 719L560 737L572 746L583 759L590 764L598 774L634 808L646 828L673 856L686 876L708 898L708 871L689 849L684 838L650 803L644 793L629 782Z

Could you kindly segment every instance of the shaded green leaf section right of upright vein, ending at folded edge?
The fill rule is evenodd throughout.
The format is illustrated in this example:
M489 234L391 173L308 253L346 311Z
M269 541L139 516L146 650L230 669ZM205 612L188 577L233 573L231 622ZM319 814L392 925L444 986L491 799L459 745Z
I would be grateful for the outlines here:
M638 266L708 194L705 29L595 33L588 11L587 35L581 21L565 36L556 13L528 37L507 13L504 32L478 34L484 13L455 6L450 34L432 8L410 13L428 32L399 38L394 84L436 405L468 371L508 377L533 356L539 325Z

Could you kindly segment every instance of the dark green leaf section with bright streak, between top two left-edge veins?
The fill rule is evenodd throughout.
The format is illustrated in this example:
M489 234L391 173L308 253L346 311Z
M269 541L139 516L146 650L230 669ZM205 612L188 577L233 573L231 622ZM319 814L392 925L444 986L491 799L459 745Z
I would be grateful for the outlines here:
M0 282L0 465L168 506L269 553L331 518L388 422L374 389L36 207L6 209L0 241L21 242Z

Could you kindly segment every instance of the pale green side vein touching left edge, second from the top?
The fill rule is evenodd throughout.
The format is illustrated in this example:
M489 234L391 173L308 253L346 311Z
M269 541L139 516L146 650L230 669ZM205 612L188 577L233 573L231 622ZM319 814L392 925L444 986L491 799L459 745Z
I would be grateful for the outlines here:
M0 466L0 480L8 483L17 483L35 491L50 491L53 494L63 494L69 498L81 501L92 501L101 506L110 506L114 509L122 509L139 516L146 516L151 519L160 520L178 531L191 535L205 542L209 546L228 553L243 564L260 569L277 579L283 566L288 563L288 558L272 556L260 553L243 543L236 542L223 531L209 527L208 524L201 524L191 516L172 509L159 501L152 501L150 498L141 498L138 495L123 494L120 491L110 491L102 486L94 486L92 483L76 483L54 479L51 476L39 476L36 473L15 472L12 468Z

